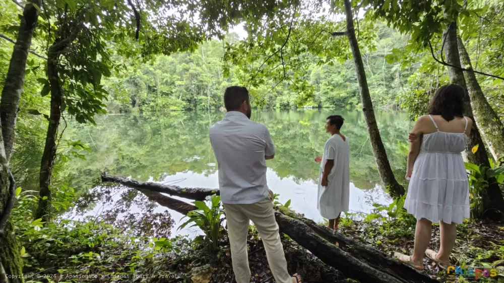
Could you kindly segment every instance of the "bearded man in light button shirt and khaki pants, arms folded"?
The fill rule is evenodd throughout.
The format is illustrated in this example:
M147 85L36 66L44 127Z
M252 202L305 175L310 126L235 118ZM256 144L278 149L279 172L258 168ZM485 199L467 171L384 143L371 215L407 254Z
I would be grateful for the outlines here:
M210 143L219 169L219 189L226 211L233 272L237 283L249 283L247 235L250 220L259 232L271 271L278 283L300 283L290 276L266 183L266 160L275 157L268 128L250 121L248 90L229 87L224 93L227 113L210 128Z

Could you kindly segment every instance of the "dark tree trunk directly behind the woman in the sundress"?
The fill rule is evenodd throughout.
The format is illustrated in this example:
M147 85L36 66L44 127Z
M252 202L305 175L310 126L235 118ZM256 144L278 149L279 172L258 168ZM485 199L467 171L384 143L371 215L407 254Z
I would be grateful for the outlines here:
M452 84L461 85L465 90L464 96L464 114L474 121L473 111L471 107L471 98L467 92L466 81L464 79L464 74L460 69L460 57L459 49L457 44L457 24L451 23L448 29L445 31L444 36L446 37L445 42L445 54L447 63L454 65L455 67L448 67L448 73L450 75L450 82ZM472 148L478 146L478 150L475 154L472 153ZM467 158L469 162L484 166L489 168L490 163L488 161L488 155L486 153L485 144L478 130L476 123L473 123L471 134L467 140L466 147ZM485 211L484 216L489 217L492 220L502 219L502 213L504 212L504 198L502 198L502 193L495 180L495 178L489 178L488 187L486 193L483 195L483 210Z

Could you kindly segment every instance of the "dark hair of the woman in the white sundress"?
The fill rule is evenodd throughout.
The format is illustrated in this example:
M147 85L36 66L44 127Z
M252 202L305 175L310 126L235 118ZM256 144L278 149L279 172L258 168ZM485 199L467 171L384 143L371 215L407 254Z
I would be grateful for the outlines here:
M447 121L455 117L464 117L465 90L457 84L440 87L430 101L428 113L441 115Z

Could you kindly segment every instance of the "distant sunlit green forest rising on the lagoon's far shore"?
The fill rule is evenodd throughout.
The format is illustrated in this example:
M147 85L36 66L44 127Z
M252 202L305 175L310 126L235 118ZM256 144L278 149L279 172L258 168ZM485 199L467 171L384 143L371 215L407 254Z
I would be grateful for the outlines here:
M364 52L368 85L373 104L379 109L400 108L397 97L402 87L419 64L401 70L400 63L387 63L386 55L393 48L401 48L407 37L383 23L375 25L376 50ZM107 78L106 87L112 95L109 112L219 109L223 106L222 94L230 85L246 85L240 82L237 66L230 67L226 78L222 71L224 44L237 42L238 35L229 34L222 41L212 40L201 44L195 52L158 55L154 62L140 68L125 71L120 77ZM302 105L296 102L298 94L289 87L288 80L274 87L276 82L264 78L259 89L249 88L258 97L254 101L270 109L295 109L298 107L324 107L355 109L360 97L355 70L351 59L333 65L320 64L320 58L312 57L307 65L312 97ZM152 64L151 64L152 63ZM256 62L254 62L256 63ZM261 61L257 61L260 64ZM294 90L293 90L294 89Z

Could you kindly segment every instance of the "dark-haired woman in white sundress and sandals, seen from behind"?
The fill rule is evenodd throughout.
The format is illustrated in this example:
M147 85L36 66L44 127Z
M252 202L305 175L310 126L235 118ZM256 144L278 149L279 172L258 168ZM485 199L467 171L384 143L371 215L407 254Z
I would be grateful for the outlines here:
M417 219L413 255L395 256L418 270L426 254L443 268L457 238L456 224L470 217L469 184L461 152L466 148L473 121L463 115L465 90L455 84L437 90L410 133L404 207ZM420 138L417 138L420 137ZM439 222L440 248L427 249L432 222Z

